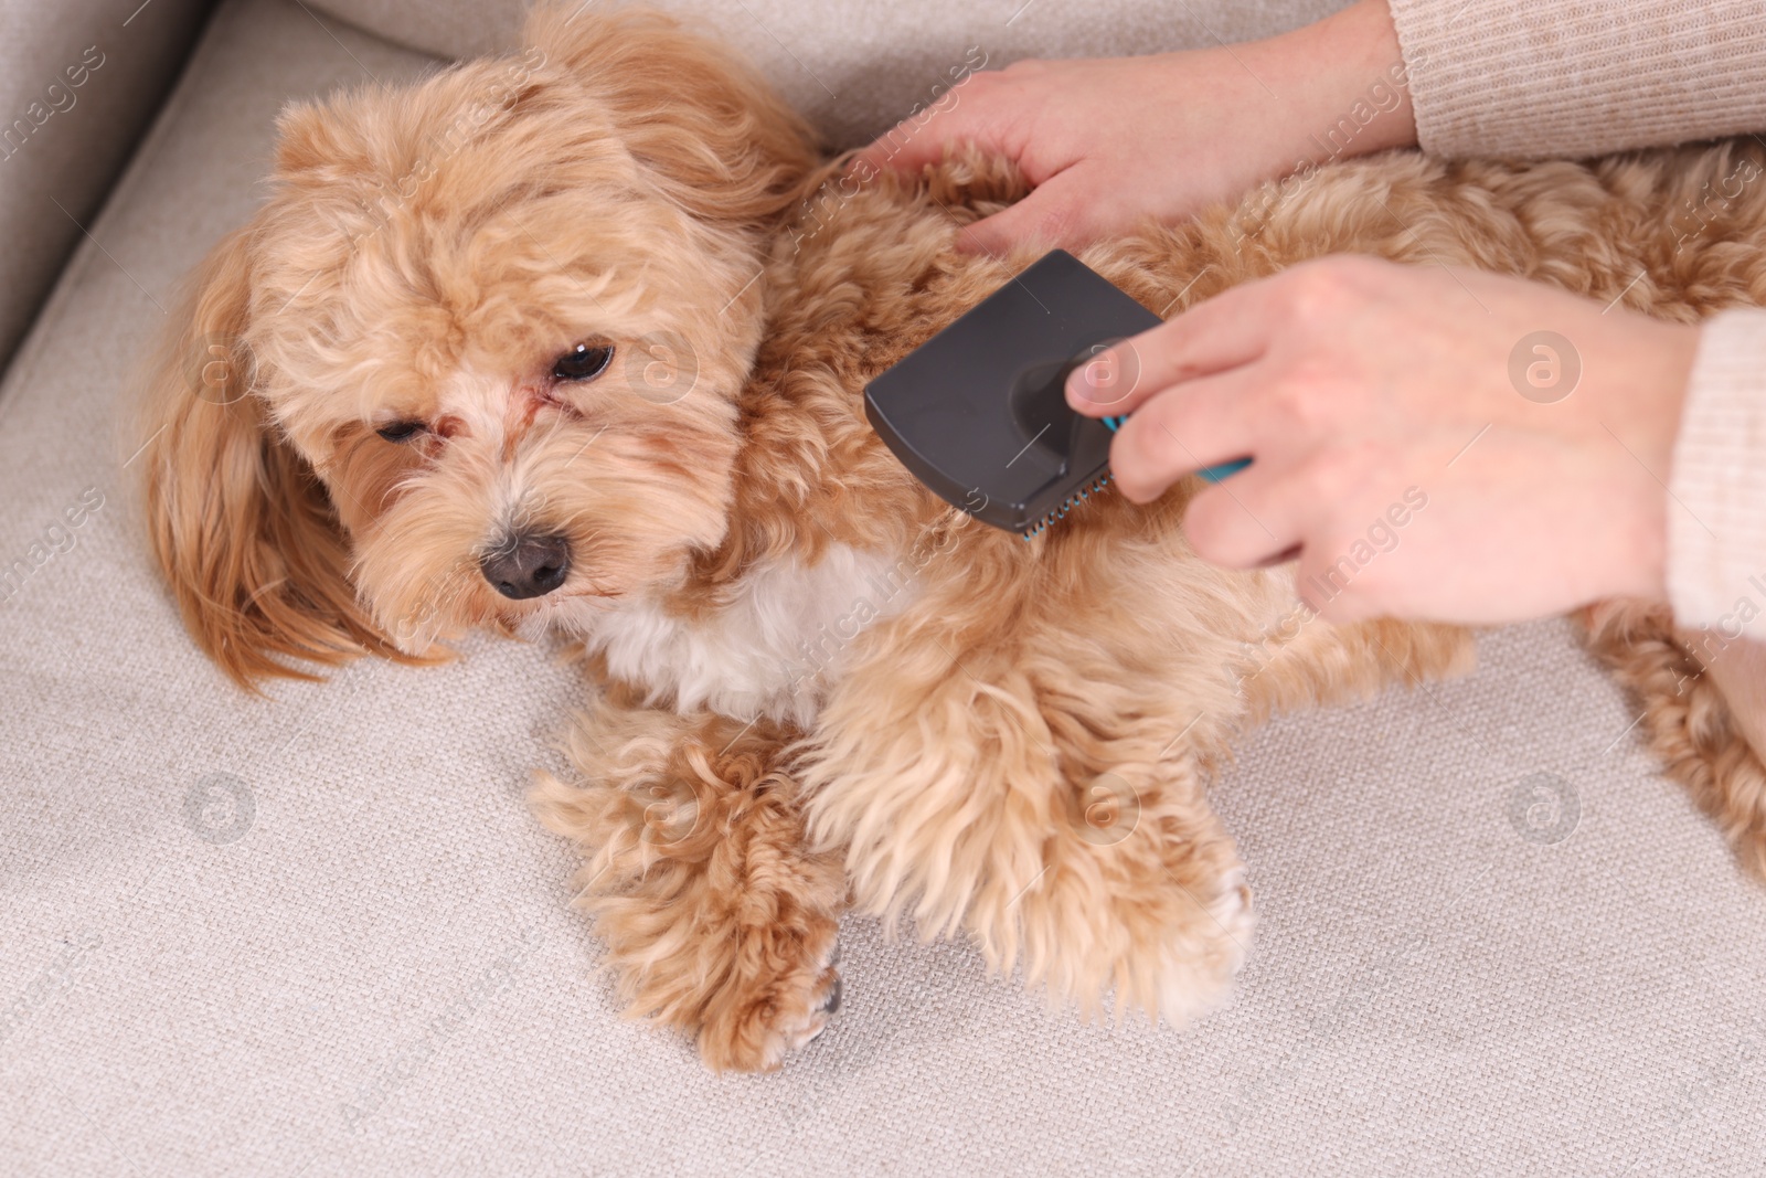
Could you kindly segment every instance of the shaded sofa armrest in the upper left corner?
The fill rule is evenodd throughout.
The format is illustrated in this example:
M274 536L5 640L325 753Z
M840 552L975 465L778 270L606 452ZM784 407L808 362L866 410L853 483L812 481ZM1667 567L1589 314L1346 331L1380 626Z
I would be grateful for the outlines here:
M178 76L210 0L0 0L0 366Z

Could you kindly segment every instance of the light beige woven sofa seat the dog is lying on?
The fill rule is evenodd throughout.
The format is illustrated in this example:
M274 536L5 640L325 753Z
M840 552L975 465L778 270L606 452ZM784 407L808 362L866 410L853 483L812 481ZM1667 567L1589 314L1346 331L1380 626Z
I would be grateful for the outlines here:
M427 67L230 0L0 389L0 1174L1759 1173L1766 895L1559 623L1245 744L1261 927L1197 1028L862 918L779 1076L622 1023L523 804L579 698L547 648L247 699L106 443L277 106Z

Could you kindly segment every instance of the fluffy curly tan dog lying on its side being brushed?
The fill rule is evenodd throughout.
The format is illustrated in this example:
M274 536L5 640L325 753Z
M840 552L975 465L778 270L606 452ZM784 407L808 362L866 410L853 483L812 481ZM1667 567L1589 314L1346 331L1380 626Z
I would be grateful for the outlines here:
M948 509L860 390L1033 260L952 249L1021 180L842 178L662 18L540 12L526 44L284 113L155 378L152 537L196 641L253 685L470 627L579 639L581 781L537 805L630 1010L713 1067L825 1026L848 906L1091 1010L1217 1003L1252 922L1210 768L1273 708L1464 669L1468 634L1332 627L1291 570L1201 563L1189 486L1031 542ZM1766 201L1685 244L1671 215L1748 161L1390 155L1084 260L1166 314L1365 253L1687 320L1766 300ZM1639 606L1595 636L1759 867L1761 768L1697 653Z

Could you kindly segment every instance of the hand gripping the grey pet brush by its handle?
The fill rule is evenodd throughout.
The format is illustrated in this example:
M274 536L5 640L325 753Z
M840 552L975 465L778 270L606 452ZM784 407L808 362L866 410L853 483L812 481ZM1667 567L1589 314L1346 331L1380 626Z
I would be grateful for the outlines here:
M1697 341L1521 279L1339 256L1116 344L1067 399L1132 412L1111 470L1137 503L1254 459L1189 505L1206 560L1298 553L1300 595L1337 622L1515 622L1665 597Z

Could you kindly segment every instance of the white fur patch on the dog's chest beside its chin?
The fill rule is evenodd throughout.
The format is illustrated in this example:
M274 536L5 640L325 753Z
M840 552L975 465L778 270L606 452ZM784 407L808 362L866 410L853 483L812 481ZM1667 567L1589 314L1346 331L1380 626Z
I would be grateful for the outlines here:
M768 715L809 726L846 648L918 592L909 560L835 544L805 569L786 558L751 569L738 595L701 622L653 600L623 600L583 623L608 671L673 696L678 712Z

